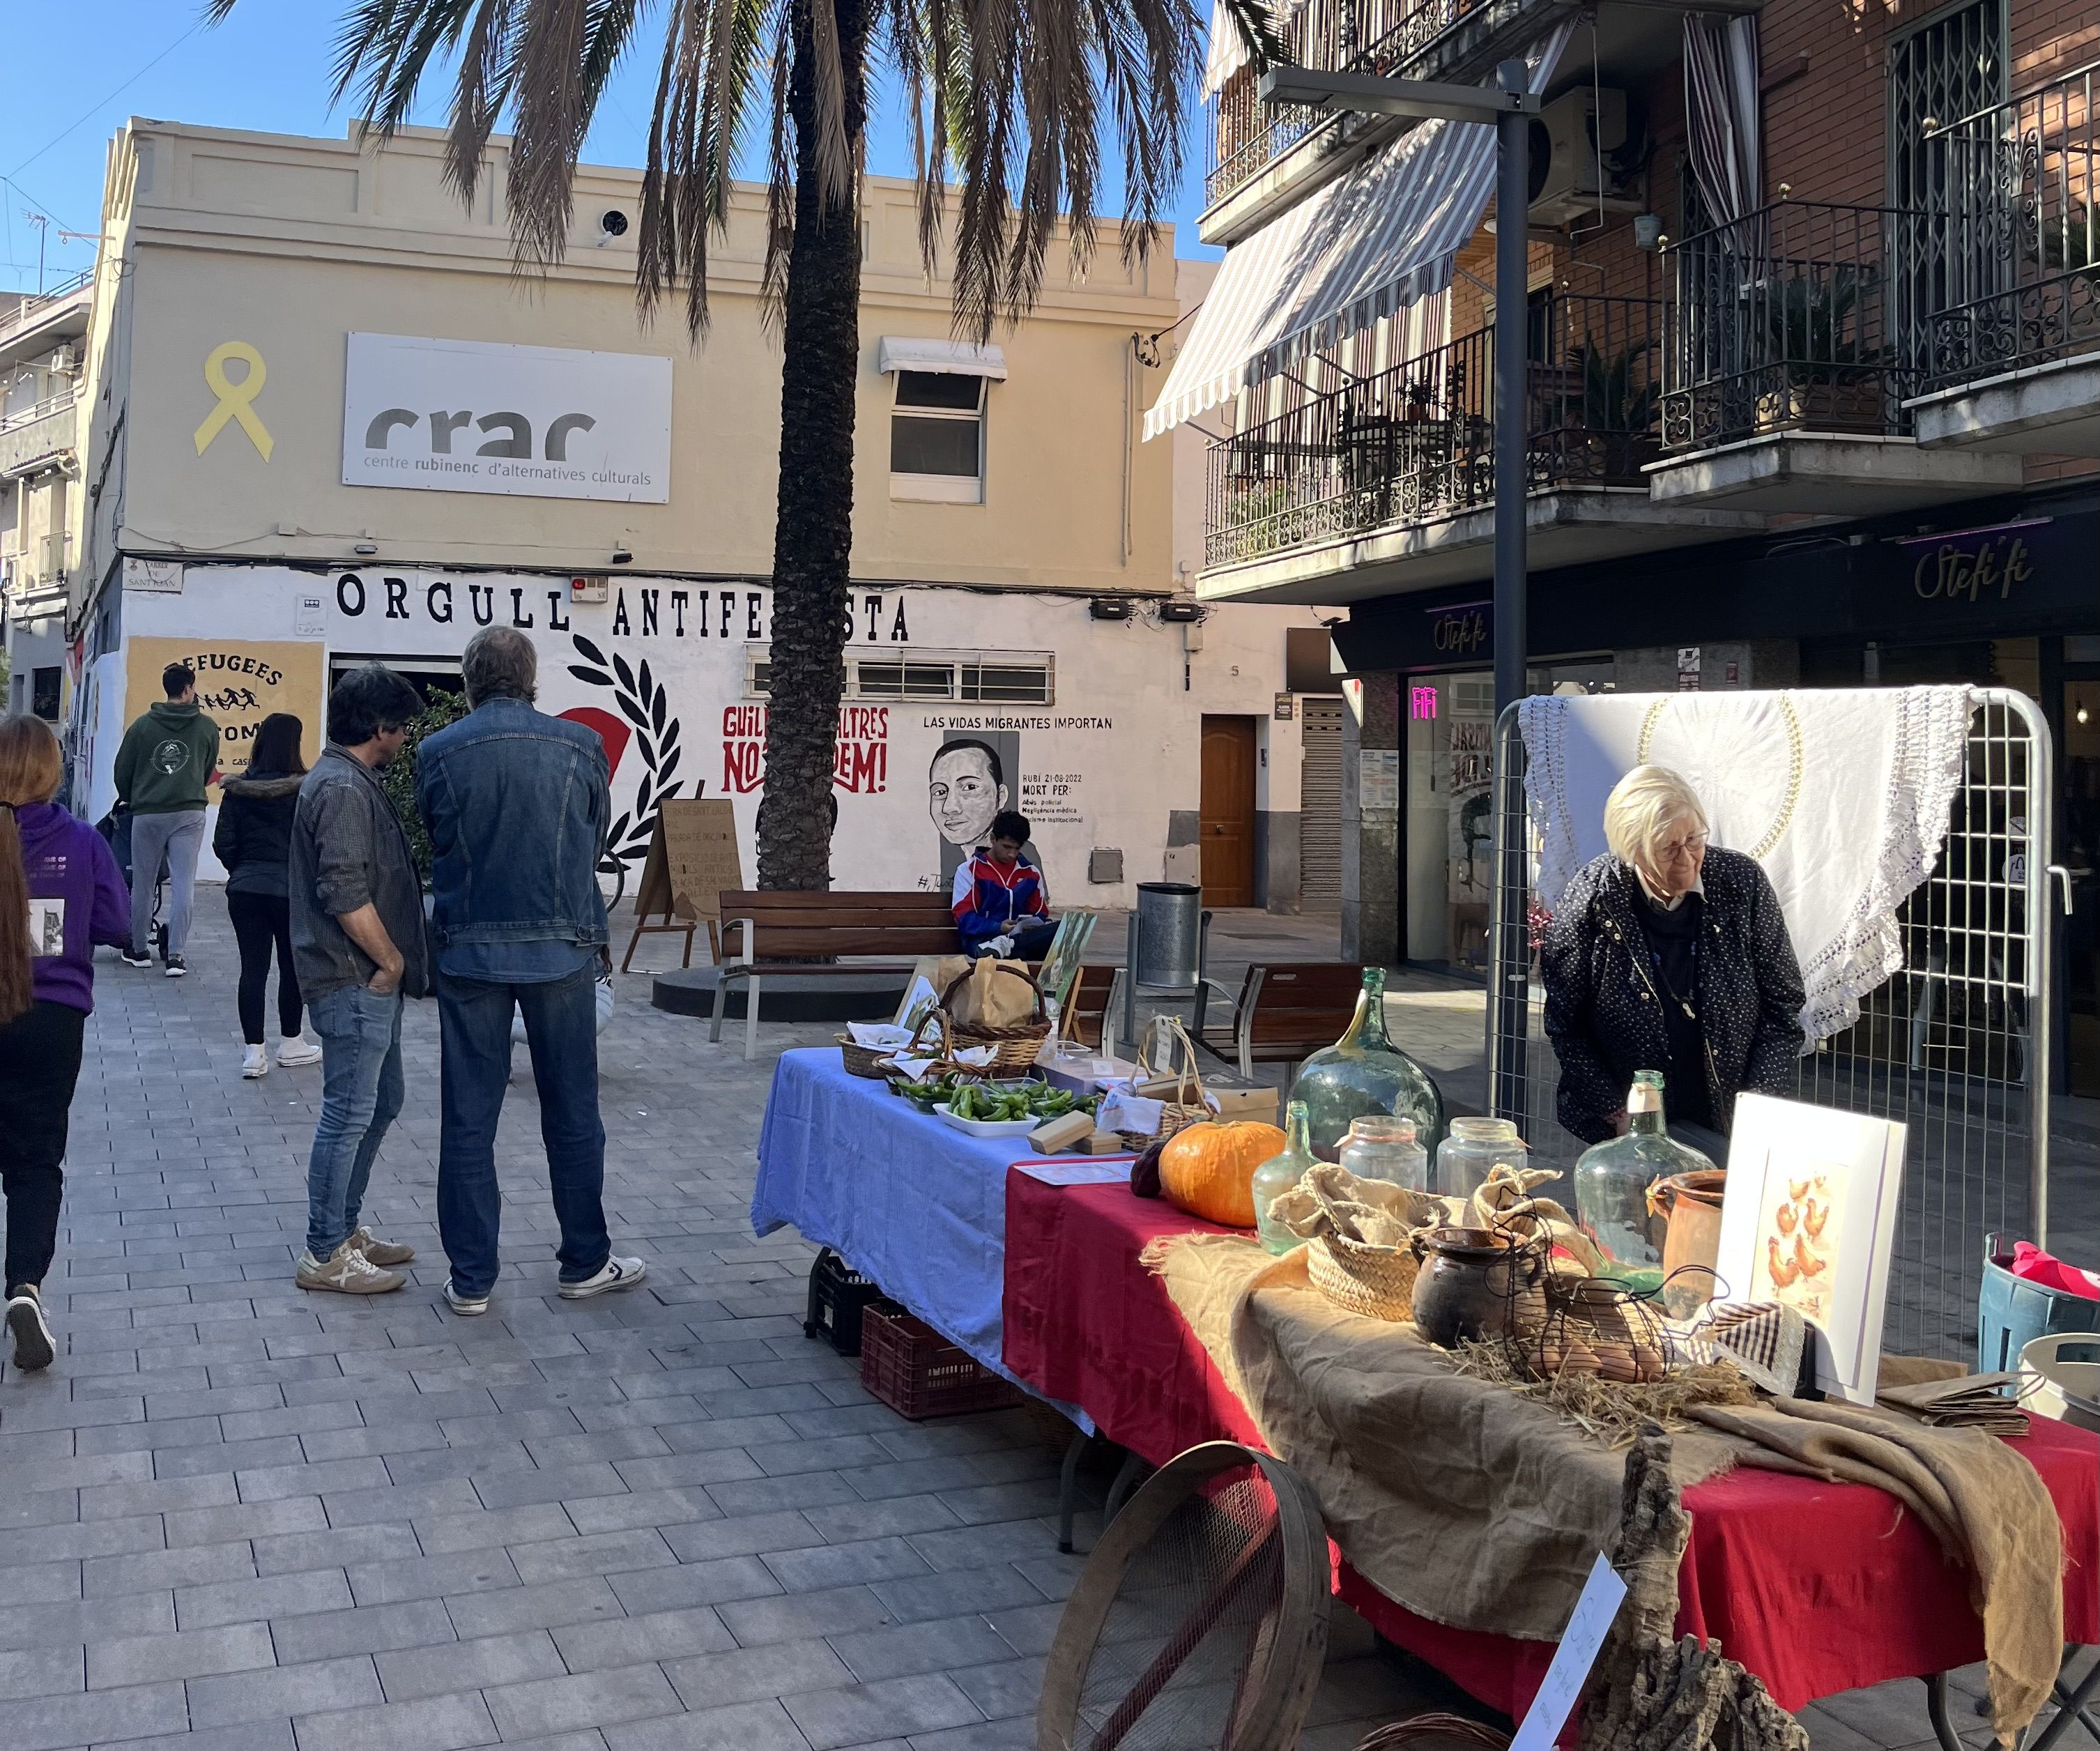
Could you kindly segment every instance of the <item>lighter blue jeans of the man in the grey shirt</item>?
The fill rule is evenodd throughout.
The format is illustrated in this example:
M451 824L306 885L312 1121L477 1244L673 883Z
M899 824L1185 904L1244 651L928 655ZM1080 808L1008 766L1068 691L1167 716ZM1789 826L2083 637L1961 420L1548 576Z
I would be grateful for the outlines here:
M321 1119L307 1165L307 1251L326 1260L365 1205L372 1157L401 1111L401 993L363 985L307 1004L321 1035Z

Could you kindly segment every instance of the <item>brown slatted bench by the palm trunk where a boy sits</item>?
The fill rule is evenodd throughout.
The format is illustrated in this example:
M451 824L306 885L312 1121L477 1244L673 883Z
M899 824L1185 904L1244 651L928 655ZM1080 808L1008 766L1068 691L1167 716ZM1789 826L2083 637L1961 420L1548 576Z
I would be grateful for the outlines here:
M850 978L918 968L922 955L962 953L956 915L924 890L762 888L722 894L722 959L708 1039L722 1037L729 985L743 987L743 1056L758 1050L758 987L764 974ZM842 959L842 957L853 959Z

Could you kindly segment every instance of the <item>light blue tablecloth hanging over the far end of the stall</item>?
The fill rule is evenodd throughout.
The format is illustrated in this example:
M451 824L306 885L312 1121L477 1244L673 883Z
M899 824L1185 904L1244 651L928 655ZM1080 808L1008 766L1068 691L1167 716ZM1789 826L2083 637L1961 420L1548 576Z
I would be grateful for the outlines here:
M972 1138L846 1075L836 1046L781 1052L758 1134L752 1228L832 1247L987 1369L1006 1293L1006 1169L1027 1138Z

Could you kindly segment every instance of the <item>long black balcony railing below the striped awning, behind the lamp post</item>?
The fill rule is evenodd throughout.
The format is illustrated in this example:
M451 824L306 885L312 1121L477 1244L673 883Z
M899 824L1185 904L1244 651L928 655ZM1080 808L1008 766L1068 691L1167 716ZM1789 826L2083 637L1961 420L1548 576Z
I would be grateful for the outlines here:
M1659 307L1558 296L1525 321L1531 485L1640 485L1657 456ZM1205 567L1493 504L1493 336L1489 323L1214 441Z

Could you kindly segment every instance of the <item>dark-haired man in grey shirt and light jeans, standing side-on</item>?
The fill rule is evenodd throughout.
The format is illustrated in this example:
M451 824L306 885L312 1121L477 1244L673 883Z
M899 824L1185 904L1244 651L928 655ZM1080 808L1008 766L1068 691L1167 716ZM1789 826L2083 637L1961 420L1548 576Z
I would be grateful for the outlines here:
M328 745L292 817L292 964L321 1035L321 1117L307 1165L300 1289L376 1295L414 1247L359 1222L372 1159L401 1111L401 1004L430 993L422 882L378 768L401 752L422 697L365 663L328 695Z

